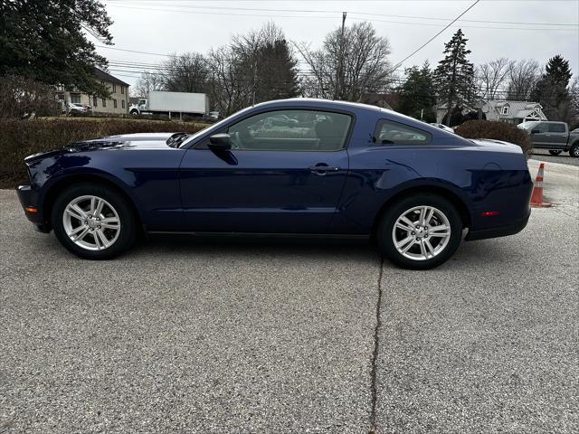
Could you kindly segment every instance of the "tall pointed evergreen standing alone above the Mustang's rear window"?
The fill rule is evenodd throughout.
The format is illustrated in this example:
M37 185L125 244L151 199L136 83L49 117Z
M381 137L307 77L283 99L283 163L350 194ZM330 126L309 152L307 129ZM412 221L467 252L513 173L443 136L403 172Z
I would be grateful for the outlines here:
M457 105L469 105L474 97L474 66L467 60L470 50L466 49L468 39L462 30L452 35L444 44L444 59L434 70L434 83L438 90L439 102L446 103L444 123L451 125L451 113Z

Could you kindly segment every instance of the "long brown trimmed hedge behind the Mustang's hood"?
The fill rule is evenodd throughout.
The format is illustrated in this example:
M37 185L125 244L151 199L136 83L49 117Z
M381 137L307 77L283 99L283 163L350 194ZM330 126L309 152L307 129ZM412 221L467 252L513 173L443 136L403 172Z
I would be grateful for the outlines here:
M91 137L130 133L195 133L204 124L130 119L0 119L0 178L4 186L26 179L24 157Z

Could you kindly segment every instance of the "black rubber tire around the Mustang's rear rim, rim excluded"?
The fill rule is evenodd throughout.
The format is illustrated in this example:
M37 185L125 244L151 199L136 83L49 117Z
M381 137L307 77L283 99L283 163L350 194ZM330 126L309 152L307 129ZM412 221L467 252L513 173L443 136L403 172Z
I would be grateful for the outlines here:
M430 259L409 259L403 256L394 246L394 224L405 212L418 206L430 206L442 212L451 226L451 236L446 247L443 247L440 252ZM376 233L376 239L381 253L399 267L403 269L433 269L450 259L458 249L460 240L462 239L462 221L455 206L446 198L436 194L413 194L404 197L388 207L382 216Z

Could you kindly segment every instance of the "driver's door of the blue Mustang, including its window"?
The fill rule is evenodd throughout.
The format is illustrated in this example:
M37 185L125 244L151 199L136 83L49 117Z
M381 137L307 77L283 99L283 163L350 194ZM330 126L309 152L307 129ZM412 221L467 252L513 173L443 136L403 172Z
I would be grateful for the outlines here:
M274 115L293 120L272 122ZM180 166L188 230L326 232L346 180L353 122L347 113L270 109L220 129L230 150L202 139Z

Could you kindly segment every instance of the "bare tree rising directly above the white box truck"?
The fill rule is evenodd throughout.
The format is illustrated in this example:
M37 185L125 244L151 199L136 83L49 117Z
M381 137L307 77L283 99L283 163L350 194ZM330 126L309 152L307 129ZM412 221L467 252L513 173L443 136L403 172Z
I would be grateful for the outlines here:
M160 71L164 90L204 93L207 89L207 61L198 52L172 55L161 64Z

